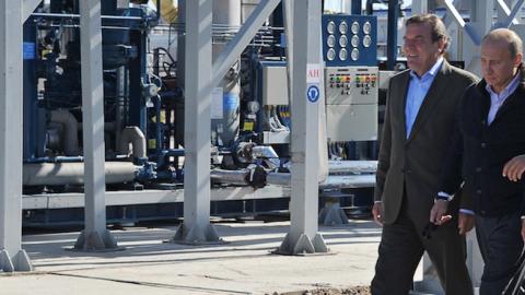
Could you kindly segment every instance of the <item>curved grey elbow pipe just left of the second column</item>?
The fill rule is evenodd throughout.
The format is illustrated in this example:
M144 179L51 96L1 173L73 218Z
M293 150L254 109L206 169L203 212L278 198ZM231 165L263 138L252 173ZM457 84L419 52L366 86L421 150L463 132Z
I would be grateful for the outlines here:
M79 155L79 122L66 109L51 110L51 122L63 126L63 152L67 156Z

